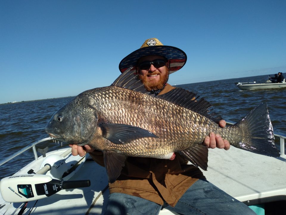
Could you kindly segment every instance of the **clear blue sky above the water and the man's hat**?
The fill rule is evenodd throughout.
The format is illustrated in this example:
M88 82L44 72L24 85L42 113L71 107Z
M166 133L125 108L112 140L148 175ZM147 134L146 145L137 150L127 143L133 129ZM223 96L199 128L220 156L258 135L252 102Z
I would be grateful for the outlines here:
M286 73L286 1L0 1L0 103L110 85L156 37L184 50L170 84Z

